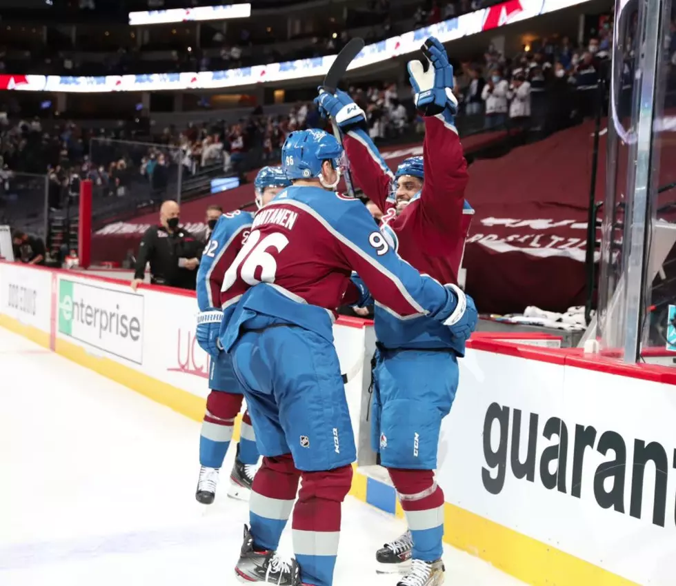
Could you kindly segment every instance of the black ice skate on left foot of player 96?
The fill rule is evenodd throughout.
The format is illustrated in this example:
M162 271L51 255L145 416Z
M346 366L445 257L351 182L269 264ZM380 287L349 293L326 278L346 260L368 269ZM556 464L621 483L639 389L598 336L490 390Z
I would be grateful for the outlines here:
M253 536L244 525L244 543L235 566L237 580L244 584L263 583L277 586L301 586L296 560L282 560L268 549L256 551Z

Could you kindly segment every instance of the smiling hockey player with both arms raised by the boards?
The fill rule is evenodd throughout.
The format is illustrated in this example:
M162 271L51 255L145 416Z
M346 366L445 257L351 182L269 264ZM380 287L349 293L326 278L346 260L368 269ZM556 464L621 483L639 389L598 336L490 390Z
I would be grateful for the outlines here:
M344 133L355 183L386 212L382 231L388 243L420 272L455 284L473 210L464 200L468 174L453 118L453 68L437 39L430 37L423 52L428 70L410 61L408 71L415 105L425 117L424 156L406 159L394 176L364 132L364 112L347 94L321 93L317 103ZM372 443L397 489L409 531L379 549L376 560L379 572L408 572L399 586L435 586L444 572L444 493L433 471L464 341L433 320L426 328L410 322L391 328L384 324L389 320L377 306Z

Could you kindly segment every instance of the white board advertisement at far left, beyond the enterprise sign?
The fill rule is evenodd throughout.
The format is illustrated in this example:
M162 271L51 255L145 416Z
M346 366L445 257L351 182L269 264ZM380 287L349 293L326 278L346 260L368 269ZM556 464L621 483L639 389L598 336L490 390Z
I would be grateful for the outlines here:
M48 332L51 282L48 271L2 263L0 314Z

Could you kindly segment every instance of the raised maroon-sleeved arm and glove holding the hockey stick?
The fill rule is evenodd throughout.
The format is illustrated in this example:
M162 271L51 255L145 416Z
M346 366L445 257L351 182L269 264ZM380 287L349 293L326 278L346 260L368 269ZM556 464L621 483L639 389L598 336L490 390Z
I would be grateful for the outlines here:
M366 114L346 92L321 92L315 99L323 117L332 117L343 135L343 146L355 183L386 213L395 205L390 198L394 174L366 131Z

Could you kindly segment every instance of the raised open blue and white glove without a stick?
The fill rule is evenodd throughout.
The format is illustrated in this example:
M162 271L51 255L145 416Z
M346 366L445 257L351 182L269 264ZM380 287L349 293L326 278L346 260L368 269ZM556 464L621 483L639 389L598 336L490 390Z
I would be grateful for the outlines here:
M415 107L423 116L441 115L445 121L454 124L458 101L453 95L453 66L448 63L446 49L435 37L430 37L421 50L428 62L427 71L420 61L408 61Z

